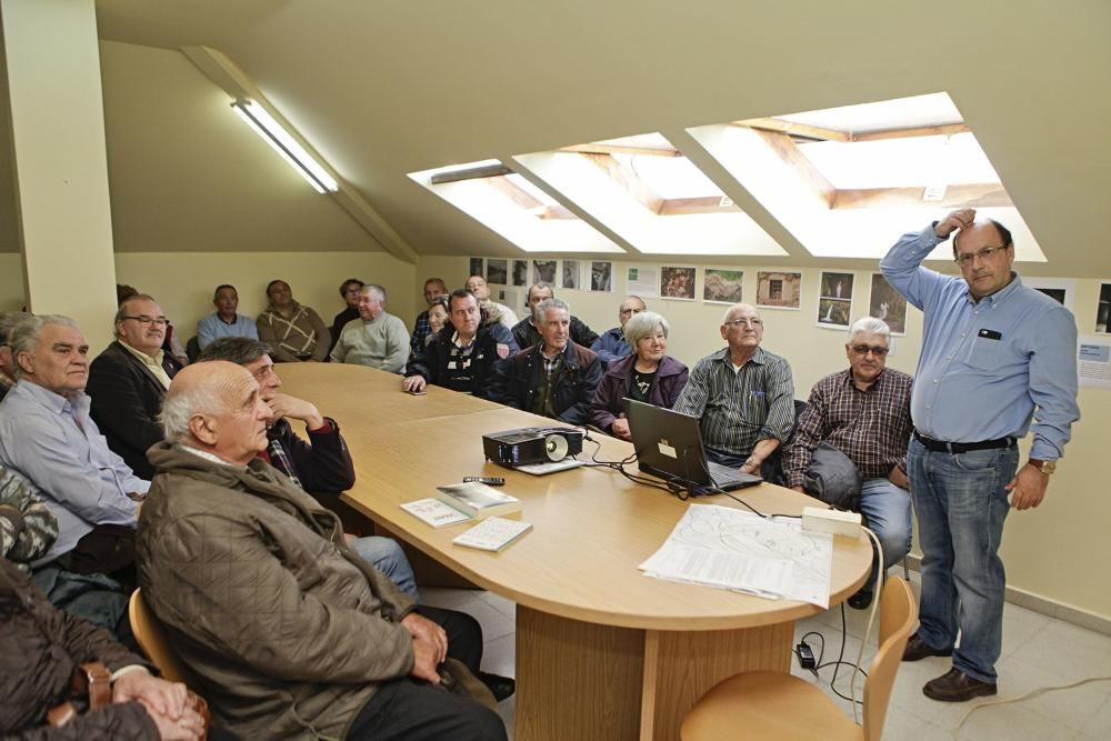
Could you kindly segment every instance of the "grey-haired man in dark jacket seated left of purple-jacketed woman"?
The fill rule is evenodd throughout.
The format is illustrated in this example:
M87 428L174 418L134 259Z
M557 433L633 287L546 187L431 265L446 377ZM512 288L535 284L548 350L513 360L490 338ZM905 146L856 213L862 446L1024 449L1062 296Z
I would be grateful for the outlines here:
M533 317L542 341L513 356L499 373L492 398L569 424L589 423L590 402L602 379L598 356L571 341L571 312L563 301L542 301Z

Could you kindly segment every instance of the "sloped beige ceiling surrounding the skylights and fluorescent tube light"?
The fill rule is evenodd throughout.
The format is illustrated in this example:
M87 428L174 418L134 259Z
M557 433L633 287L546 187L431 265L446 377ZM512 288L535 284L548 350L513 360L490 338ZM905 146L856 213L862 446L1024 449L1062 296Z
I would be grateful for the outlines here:
M1104 0L98 0L97 8L102 39L227 54L418 253L519 252L409 172L658 131L722 184L731 179L699 154L688 128L945 91L1049 258L1038 270L1111 276ZM313 249L321 240L312 236L327 249L380 249L296 174L278 174L286 166L277 158L266 166L244 154L253 134L233 116L224 127L214 112L187 110L219 92L199 72L148 63L161 57L138 47L106 44L102 53L118 249L178 249L177 238L156 237L188 230L198 214L221 221L237 242L261 230L238 249ZM148 98L182 117L174 136L150 130ZM190 139L197 132L203 142ZM830 262L810 257L743 189L723 190L788 251L778 260Z

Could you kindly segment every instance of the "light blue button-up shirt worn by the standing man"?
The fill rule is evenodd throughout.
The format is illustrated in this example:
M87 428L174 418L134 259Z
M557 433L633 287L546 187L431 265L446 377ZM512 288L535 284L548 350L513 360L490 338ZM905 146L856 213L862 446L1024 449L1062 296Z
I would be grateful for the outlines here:
M903 234L880 261L891 286L925 314L911 418L948 442L1022 438L1034 419L1031 458L1063 454L1077 405L1077 322L1022 284L973 300L963 278L921 267L942 240L933 226Z

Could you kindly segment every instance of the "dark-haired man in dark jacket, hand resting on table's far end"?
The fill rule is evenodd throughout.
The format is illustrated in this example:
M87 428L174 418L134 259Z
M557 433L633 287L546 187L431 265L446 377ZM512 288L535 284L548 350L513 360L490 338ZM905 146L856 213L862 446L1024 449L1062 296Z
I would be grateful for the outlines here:
M423 391L431 383L491 399L497 368L518 346L502 324L482 324L479 301L467 289L452 291L448 301L448 323L410 358L402 388Z

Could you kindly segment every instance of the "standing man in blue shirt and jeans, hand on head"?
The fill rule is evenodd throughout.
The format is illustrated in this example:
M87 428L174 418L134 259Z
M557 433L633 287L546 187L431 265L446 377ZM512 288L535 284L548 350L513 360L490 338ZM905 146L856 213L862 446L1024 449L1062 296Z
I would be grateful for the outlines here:
M922 268L954 232L962 277ZM1010 231L964 209L904 234L880 262L925 314L907 454L923 553L921 625L903 661L952 655L952 669L922 689L945 702L995 694L1003 520L1012 507L1041 503L1080 418L1075 320L1023 286L1013 261ZM1018 440L1031 419L1030 460L1020 468Z

